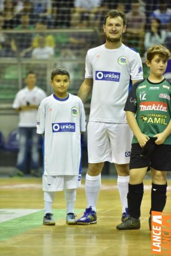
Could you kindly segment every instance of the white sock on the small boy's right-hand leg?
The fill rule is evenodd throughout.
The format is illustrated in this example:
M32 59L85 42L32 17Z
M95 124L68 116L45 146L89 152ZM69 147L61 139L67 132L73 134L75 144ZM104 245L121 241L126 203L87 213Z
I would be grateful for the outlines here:
M65 199L67 203L67 213L74 213L74 204L76 200L76 189L65 189Z

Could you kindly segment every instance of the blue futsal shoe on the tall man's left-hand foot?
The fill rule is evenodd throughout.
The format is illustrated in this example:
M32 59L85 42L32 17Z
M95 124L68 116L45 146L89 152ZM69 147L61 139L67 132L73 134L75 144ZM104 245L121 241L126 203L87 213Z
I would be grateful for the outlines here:
M96 212L92 211L91 206L86 208L84 215L80 219L77 219L77 225L89 225L95 223L97 223L97 216Z

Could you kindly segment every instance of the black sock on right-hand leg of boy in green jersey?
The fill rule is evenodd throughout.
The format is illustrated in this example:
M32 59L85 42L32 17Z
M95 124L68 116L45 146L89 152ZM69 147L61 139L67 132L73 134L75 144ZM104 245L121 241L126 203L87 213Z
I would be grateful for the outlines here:
M151 190L151 211L162 212L166 204L166 190L167 183L165 185L157 185L152 183Z

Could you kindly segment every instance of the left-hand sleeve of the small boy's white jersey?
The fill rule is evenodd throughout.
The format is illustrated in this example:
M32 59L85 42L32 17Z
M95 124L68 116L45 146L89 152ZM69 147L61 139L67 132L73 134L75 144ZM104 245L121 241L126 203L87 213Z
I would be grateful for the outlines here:
M37 133L44 134L45 133L45 108L42 103L38 108L38 115L37 115Z

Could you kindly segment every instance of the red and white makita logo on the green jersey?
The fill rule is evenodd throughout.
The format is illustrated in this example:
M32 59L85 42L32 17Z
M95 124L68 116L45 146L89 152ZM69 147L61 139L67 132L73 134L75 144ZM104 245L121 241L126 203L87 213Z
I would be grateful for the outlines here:
M156 111L163 111L167 112L167 103L165 102L155 102L155 101L147 101L147 102L141 102L140 105L140 111L146 111L146 110L156 110Z

